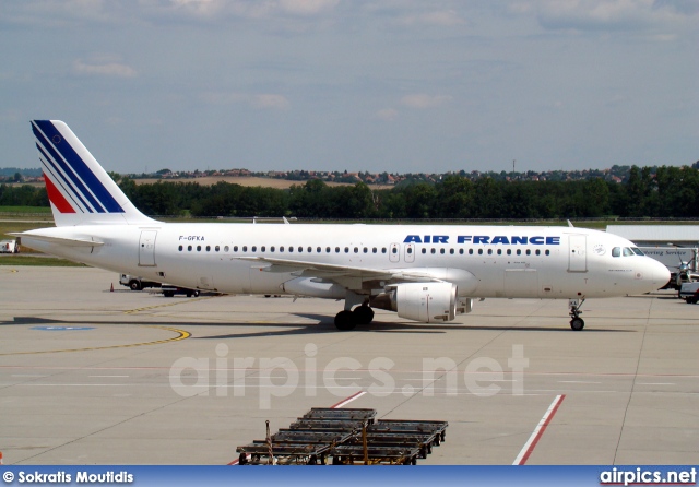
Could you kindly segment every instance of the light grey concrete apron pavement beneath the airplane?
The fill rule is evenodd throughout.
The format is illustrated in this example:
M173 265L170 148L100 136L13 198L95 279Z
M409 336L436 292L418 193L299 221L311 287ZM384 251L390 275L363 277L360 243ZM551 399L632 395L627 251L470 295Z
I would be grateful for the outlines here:
M671 292L590 300L582 332L533 299L339 332L342 302L165 298L83 268L0 266L0 296L5 464L227 464L265 419L357 393L345 407L449 421L418 464L698 458L699 306Z

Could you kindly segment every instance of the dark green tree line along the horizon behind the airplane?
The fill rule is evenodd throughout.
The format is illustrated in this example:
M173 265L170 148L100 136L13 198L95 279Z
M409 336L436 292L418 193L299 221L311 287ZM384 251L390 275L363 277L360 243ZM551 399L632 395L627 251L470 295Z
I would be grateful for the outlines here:
M289 189L228 182L137 185L111 175L147 215L216 217L296 216L303 218L587 218L697 217L699 170L689 167L631 167L624 182L475 181L450 175L436 183L415 182L377 190L364 182L328 186L309 180ZM0 205L48 205L46 190L0 185Z

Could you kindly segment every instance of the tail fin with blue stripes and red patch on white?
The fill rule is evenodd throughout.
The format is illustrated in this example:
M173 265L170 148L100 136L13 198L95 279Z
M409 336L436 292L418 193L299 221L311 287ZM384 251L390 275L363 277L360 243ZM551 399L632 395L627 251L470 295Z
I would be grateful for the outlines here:
M32 120L56 226L155 223L129 201L66 123Z

